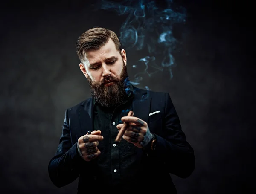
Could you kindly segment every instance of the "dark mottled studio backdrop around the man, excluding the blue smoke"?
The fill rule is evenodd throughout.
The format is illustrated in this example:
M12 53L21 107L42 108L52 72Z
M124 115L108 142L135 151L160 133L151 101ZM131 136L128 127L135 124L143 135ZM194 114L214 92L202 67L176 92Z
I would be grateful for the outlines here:
M125 20L86 1L8 2L1 6L0 193L76 193L77 180L56 188L48 163L64 111L90 97L75 43L94 26L117 34ZM96 1L93 1L96 3ZM138 87L168 92L196 167L172 175L179 194L247 193L255 186L253 6L248 2L176 1L187 9L173 78L160 72ZM164 6L160 3L159 6ZM176 33L178 36L180 33ZM136 73L128 55L128 73ZM154 167L157 170L157 167Z

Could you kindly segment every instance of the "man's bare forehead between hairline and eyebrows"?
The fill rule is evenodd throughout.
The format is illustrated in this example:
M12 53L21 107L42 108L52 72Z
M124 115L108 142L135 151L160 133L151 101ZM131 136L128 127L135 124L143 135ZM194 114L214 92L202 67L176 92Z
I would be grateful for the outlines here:
M86 53L86 58L89 64L104 61L105 58L111 56L119 56L119 51L117 51L115 43L111 39L99 50L91 50Z

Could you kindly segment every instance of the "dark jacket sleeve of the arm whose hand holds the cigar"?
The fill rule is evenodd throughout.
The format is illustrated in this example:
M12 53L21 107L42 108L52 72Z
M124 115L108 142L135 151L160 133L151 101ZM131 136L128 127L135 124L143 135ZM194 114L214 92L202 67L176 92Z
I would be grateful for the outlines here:
M154 156L164 163L169 173L178 177L189 177L195 169L195 154L181 130L180 119L176 113L169 93L166 93L163 136L156 135Z

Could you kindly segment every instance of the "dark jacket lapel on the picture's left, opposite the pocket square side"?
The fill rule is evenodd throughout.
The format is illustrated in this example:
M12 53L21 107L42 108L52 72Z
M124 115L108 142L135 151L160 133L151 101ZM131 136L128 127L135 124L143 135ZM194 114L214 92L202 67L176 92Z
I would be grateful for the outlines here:
M82 135L87 134L87 131L93 131L93 99L89 98L82 103L79 110L79 122Z

